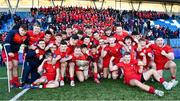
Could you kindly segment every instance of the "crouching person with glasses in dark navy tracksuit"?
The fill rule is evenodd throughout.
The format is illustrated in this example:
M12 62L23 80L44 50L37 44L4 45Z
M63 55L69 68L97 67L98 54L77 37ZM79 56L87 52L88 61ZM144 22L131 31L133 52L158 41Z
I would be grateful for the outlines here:
M39 40L36 49L28 49L25 56L24 70L22 76L22 86L33 83L39 78L37 69L42 63L45 54L45 41ZM30 75L31 74L31 75ZM29 78L30 76L30 78Z

